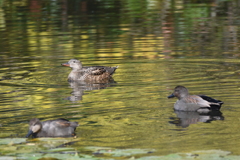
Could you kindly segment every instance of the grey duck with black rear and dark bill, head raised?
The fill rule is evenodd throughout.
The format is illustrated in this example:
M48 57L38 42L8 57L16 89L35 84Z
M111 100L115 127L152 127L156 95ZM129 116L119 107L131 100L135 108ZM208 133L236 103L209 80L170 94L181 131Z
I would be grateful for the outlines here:
M205 95L189 95L187 88L177 86L173 94L168 98L177 97L178 101L174 104L174 109L178 111L197 111L209 112L211 110L220 110L222 101L213 99Z

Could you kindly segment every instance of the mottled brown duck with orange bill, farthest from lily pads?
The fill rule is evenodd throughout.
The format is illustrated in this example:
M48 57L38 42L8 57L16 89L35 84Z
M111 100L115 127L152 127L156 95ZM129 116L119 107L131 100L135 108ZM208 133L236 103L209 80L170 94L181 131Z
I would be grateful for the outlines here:
M106 66L90 66L83 67L82 63L77 59L71 59L62 66L72 68L71 73L68 75L68 81L103 81L112 78L113 73L118 68Z

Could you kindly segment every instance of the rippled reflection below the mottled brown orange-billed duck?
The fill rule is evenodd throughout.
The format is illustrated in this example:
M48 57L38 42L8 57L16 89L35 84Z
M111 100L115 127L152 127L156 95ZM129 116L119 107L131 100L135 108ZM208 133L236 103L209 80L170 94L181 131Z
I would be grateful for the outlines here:
M114 79L109 79L104 81L94 81L94 82L73 81L68 83L69 83L69 87L72 88L73 91L71 93L71 96L65 99L71 102L81 101L84 91L105 89L107 87L111 87L114 84L116 84Z

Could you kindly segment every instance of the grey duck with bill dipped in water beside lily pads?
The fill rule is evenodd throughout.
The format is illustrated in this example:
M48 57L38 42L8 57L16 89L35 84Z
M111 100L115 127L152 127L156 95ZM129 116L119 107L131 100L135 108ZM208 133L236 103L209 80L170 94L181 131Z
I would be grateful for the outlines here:
M38 118L33 118L29 122L28 138L32 135L37 137L72 137L75 136L75 129L78 122L70 122L67 119L56 119L41 122Z

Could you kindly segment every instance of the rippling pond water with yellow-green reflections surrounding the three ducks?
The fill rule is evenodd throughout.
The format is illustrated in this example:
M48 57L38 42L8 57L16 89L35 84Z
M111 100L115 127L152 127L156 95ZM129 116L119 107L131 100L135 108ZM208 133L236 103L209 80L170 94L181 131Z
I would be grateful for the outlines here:
M143 159L199 150L240 155L239 5L1 2L1 156L41 158L59 146L54 153L70 149L63 154L69 157L93 155L91 147L108 147L108 154L94 155L113 159L114 149L139 149L122 157ZM119 66L115 82L68 83L71 69L61 63L71 58L84 66ZM177 99L167 96L177 85L222 100L221 112L174 112ZM79 122L77 138L25 139L34 117Z

